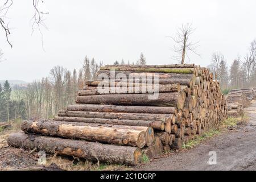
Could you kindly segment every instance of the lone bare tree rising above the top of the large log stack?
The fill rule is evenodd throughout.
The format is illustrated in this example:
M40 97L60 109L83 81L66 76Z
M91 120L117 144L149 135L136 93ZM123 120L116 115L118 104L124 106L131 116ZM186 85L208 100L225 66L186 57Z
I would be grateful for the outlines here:
M174 46L174 52L177 54L173 58L177 61L180 61L181 64L185 63L185 57L189 60L189 52L194 53L197 56L200 56L196 52L196 48L199 47L199 42L191 42L190 36L195 32L195 28L192 28L192 23L182 24L180 28L177 28L177 33L175 37L170 37L176 45Z

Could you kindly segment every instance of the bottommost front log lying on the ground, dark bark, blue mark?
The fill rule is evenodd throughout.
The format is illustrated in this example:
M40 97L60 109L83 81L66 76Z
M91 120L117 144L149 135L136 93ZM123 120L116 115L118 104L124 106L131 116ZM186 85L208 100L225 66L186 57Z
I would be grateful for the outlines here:
M114 146L82 140L37 137L24 133L9 135L9 146L26 150L46 151L51 154L70 155L85 158L94 162L119 163L136 165L141 162L142 152L139 148Z

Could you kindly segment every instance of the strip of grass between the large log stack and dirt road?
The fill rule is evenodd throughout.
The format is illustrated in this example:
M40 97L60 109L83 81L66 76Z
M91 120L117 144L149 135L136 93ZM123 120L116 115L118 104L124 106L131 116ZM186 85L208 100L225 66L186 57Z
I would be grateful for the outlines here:
M246 115L242 115L241 117L237 118L230 117L228 119L225 119L221 123L221 125L218 126L216 129L209 130L202 134L201 136L196 136L193 140L190 140L188 143L183 143L183 148L188 149L196 147L200 143L204 142L204 140L221 134L223 131L230 129L232 127L236 127L237 125L245 124L247 121L249 121L249 117L247 117Z

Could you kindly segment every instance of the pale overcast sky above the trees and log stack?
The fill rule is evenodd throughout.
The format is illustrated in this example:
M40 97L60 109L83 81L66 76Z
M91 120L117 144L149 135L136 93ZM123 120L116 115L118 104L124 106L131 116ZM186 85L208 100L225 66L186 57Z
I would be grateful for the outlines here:
M2 3L3 0L0 0ZM245 55L256 38L256 1L67 1L45 0L48 31L31 36L32 0L15 1L9 11L11 49L0 30L0 80L32 81L46 77L55 65L81 68L85 55L104 64L136 61L141 52L147 64L175 63L171 59L175 35L182 23L196 28L192 40L200 40L191 63L207 66L213 52L224 54L228 64Z

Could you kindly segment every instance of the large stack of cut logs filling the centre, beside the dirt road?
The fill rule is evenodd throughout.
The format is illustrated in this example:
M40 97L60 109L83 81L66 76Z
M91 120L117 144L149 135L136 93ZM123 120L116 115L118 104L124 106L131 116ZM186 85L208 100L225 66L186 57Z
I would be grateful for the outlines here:
M220 86L207 68L107 65L97 74L105 80L86 81L76 105L59 111L53 120L24 121L26 134L10 135L9 145L134 165L143 154L153 158L181 148L228 117ZM153 84L142 75L153 78ZM129 92L119 92L118 86ZM158 97L151 98L154 93L148 86L158 88Z

